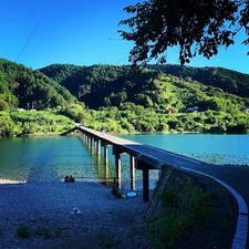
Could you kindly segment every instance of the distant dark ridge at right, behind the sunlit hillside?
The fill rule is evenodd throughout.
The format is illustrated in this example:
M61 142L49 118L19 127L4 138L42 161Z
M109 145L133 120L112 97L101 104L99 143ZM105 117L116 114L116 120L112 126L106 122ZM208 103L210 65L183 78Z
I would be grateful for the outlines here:
M249 75L222 68L193 68L180 65L147 65L148 69L175 75L184 80L199 81L225 92L249 97Z

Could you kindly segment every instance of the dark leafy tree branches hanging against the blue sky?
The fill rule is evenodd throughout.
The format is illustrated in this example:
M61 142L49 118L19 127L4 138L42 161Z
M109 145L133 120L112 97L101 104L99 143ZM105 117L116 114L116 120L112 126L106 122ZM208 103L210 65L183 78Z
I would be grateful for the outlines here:
M249 0L147 0L124 11L134 14L120 22L131 29L121 35L135 42L129 53L133 64L152 59L165 63L164 53L175 45L181 64L196 54L209 59L218 46L234 44L241 29L247 34L243 44L249 44Z

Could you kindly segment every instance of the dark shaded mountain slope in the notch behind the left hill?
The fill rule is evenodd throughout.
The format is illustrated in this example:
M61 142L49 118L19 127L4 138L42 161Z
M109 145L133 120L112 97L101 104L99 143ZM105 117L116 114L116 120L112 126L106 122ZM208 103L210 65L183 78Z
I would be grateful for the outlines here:
M122 89L125 75L131 69L112 65L53 64L40 71L66 87L79 101L96 108L104 105L104 97Z

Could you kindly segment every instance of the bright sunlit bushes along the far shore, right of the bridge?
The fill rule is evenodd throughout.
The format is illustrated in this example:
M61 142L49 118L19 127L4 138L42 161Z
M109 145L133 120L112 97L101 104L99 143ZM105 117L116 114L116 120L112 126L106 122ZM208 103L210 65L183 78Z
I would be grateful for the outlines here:
M248 133L249 115L218 111L204 113L160 114L153 108L127 103L124 110L103 107L86 110L81 123L94 129L103 126L107 132L194 132L194 133Z

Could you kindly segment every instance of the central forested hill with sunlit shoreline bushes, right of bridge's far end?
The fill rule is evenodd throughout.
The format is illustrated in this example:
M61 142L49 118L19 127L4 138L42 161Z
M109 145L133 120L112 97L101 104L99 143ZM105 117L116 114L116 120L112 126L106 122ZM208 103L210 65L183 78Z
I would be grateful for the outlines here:
M240 112L249 106L248 97L152 70L135 74L129 66L51 65L42 72L55 69L54 79L60 79L63 68L73 73L63 76L62 83L94 110L68 106L60 113L92 128L212 133L249 129L249 115Z

